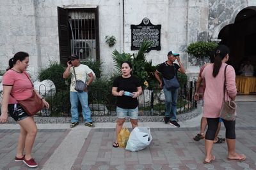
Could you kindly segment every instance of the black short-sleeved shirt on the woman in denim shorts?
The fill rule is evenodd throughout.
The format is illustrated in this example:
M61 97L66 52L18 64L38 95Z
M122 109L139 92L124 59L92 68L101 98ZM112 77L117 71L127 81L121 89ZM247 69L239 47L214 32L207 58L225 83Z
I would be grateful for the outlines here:
M123 78L122 76L118 76L114 82L113 87L117 87L117 92L120 90L124 90L127 92L137 92L137 87L141 87L140 81L138 78L134 76L130 76L129 78ZM116 106L124 109L134 109L139 105L138 100L136 98L132 98L129 96L117 96Z

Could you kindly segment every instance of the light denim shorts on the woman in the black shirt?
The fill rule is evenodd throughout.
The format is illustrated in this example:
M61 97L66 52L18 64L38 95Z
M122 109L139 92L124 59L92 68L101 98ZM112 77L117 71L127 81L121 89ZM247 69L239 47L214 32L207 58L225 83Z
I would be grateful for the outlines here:
M138 115L139 115L138 107L134 109L123 109L123 108L116 107L117 118L130 117L131 119L138 119Z

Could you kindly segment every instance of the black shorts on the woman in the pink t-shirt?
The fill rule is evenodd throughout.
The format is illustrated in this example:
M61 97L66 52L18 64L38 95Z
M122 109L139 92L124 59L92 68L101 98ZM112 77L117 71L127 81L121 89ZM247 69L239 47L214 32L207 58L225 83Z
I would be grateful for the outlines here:
M15 121L29 117L28 113L26 113L20 104L8 104L8 113Z

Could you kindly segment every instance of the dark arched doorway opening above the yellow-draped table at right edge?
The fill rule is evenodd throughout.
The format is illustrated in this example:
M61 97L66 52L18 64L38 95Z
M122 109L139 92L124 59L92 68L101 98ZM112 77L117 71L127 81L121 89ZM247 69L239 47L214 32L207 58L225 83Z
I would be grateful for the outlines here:
M220 44L230 48L230 61L236 73L244 60L256 67L256 6L249 6L241 10L234 24L229 24L221 29L218 39Z

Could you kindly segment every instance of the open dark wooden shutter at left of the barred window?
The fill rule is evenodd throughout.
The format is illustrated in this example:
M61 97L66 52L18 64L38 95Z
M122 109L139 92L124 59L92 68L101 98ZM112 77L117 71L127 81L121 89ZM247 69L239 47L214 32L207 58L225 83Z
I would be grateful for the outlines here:
M70 56L70 39L67 10L58 8L58 29L59 29L59 46L60 46L60 63L67 66L68 57Z

